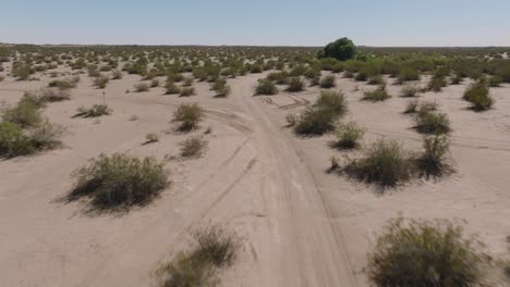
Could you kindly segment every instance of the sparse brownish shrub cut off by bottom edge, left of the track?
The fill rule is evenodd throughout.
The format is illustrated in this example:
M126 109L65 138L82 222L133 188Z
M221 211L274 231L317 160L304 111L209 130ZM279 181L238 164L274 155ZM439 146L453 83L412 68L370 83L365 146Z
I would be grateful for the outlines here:
M241 238L220 225L193 233L193 246L158 270L163 287L216 286L220 269L231 265L239 253Z

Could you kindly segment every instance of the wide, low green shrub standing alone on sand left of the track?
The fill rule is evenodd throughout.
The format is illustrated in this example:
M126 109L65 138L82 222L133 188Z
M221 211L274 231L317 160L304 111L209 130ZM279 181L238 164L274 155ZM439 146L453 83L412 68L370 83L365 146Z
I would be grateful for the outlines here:
M70 200L89 197L94 208L110 210L148 203L168 185L163 162L125 153L100 154L72 177Z

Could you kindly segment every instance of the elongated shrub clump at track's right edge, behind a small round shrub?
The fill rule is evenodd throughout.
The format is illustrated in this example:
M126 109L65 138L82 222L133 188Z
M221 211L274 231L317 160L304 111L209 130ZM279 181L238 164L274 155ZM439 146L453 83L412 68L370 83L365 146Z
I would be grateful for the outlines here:
M301 113L294 132L299 135L324 135L332 132L347 110L348 103L342 92L323 90L317 102Z

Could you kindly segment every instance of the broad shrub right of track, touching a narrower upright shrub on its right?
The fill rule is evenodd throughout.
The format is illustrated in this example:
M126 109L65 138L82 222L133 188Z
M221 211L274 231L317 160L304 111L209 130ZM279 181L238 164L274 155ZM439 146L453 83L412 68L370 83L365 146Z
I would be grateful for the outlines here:
M394 187L412 178L413 163L409 153L396 140L378 139L364 151L364 157L352 160L344 171L352 177L381 187Z

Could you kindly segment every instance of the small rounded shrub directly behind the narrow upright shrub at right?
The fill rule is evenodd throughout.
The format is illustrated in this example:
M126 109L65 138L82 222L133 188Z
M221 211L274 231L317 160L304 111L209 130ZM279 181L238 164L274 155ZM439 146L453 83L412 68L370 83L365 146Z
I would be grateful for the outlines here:
M414 117L416 129L421 134L442 135L451 132L447 114L421 110Z

